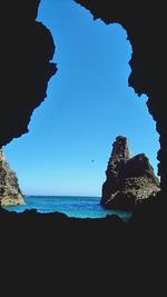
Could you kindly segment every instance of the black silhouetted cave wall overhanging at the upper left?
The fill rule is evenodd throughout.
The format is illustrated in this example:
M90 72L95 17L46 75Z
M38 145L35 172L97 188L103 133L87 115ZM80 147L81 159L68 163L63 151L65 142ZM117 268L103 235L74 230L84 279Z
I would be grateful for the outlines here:
M1 1L0 147L28 131L30 117L46 98L57 71L50 31L36 21L39 0Z

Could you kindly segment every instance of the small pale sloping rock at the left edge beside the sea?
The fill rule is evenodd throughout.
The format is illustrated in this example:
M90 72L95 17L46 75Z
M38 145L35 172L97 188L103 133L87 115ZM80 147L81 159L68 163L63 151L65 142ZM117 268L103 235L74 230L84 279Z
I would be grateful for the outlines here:
M19 188L18 178L9 167L2 149L0 149L0 205L22 205L23 195Z

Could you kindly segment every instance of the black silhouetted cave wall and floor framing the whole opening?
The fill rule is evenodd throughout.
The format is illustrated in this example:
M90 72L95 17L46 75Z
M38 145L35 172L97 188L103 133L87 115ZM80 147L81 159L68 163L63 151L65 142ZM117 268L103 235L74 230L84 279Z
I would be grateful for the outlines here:
M166 58L163 27L166 9L160 7L161 1L155 9L151 1L148 11L146 1L141 0L134 1L134 7L129 1L119 0L76 2L107 23L121 23L128 32L134 50L129 85L137 93L144 92L149 97L149 112L160 135L159 174L165 189L166 85L161 69L165 69ZM52 37L43 24L36 22L38 6L37 0L0 2L0 147L27 131L30 116L45 99L49 78L57 70L50 62L55 51ZM61 214L41 215L35 210L16 214L0 208L2 287L6 291L11 288L12 295L14 290L22 294L22 284L30 295L36 289L39 295L40 290L43 294L45 284L48 285L47 294L51 285L57 291L60 284L61 291L68 288L69 294L68 281L71 280L72 294L77 284L77 290L80 285L86 288L86 295L92 286L95 296L95 290L99 294L100 284L101 291L107 288L108 293L108 289L114 291L118 281L117 293L119 287L124 288L124 294L127 289L130 291L132 285L136 291L136 288L143 288L143 293L146 293L146 285L150 293L166 268L166 208L161 215L161 206L158 212L155 211L159 201L155 201L151 212L149 204L146 205L129 224L124 224L117 216L81 220ZM160 283L158 294L161 288Z

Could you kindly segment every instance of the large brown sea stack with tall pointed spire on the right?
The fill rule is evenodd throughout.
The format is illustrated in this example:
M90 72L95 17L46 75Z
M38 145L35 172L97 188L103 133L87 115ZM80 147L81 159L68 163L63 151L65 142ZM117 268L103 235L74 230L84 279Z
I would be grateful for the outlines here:
M112 145L100 204L110 209L132 210L136 205L160 190L145 154L130 157L128 140L118 136Z

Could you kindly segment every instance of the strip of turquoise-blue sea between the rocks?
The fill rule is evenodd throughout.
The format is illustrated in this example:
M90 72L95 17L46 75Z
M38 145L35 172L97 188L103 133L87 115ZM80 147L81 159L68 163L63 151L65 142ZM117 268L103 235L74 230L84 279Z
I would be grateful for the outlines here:
M36 209L38 212L62 212L73 218L104 218L107 215L118 215L124 221L131 217L130 211L104 209L100 197L77 196L24 196L24 205L9 206L9 211L22 212Z

